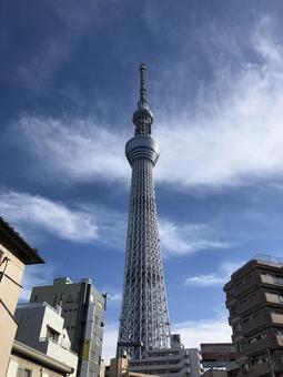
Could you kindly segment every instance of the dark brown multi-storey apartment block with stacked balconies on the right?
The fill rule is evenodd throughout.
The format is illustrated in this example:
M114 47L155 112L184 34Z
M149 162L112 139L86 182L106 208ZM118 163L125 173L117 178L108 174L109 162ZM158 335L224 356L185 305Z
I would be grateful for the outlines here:
M257 256L225 285L237 376L283 376L283 259Z

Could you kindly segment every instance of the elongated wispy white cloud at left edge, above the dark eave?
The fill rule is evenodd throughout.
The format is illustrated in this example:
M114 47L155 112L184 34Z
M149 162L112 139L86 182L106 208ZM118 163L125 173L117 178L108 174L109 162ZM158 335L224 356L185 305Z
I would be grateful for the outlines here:
M40 195L1 192L0 213L20 230L41 230L62 240L82 243L98 238L98 225L92 214Z

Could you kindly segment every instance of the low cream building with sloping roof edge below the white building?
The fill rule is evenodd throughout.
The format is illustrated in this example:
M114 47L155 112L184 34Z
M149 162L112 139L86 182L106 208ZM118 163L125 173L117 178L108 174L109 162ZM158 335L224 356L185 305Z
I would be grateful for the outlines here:
M7 377L67 377L73 368L18 340L13 342Z

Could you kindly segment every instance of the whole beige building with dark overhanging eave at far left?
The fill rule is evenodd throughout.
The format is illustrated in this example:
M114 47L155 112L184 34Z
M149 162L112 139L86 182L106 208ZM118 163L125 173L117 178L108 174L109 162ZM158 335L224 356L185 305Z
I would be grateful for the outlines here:
M0 376L6 376L17 332L13 315L24 266L38 263L44 263L38 252L0 217Z

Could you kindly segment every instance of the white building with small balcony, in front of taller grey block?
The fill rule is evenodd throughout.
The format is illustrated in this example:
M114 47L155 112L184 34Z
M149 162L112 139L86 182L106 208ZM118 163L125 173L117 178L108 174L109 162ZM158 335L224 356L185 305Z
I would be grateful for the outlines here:
M16 339L70 366L75 377L78 355L71 351L71 342L64 328L61 309L47 303L18 305L14 314L18 322Z

